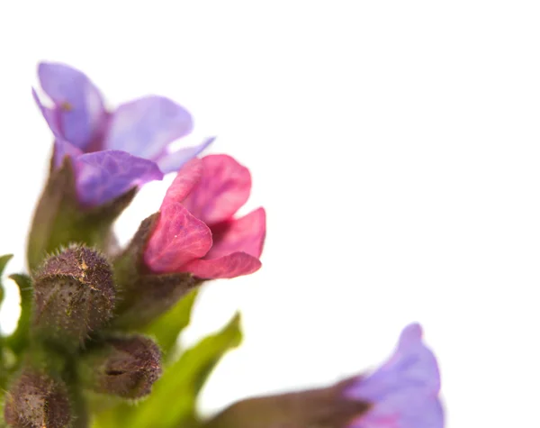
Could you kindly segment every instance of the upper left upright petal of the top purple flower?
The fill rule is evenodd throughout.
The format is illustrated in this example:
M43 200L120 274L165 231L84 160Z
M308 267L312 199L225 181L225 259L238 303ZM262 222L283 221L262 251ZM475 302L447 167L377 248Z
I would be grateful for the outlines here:
M84 149L101 131L105 120L99 90L84 73L64 64L42 62L38 76L41 87L56 105L63 137Z

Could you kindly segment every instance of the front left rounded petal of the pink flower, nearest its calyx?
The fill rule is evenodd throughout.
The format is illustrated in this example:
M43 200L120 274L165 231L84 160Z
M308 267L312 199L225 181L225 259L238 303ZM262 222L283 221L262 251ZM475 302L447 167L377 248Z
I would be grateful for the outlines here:
M164 200L156 229L148 241L144 260L154 272L188 272L184 265L211 248L211 232L182 204Z

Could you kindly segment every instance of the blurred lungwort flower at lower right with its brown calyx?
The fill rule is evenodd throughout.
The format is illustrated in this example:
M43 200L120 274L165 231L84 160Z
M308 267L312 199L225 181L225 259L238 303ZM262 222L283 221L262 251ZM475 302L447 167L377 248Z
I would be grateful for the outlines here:
M372 374L331 387L248 398L205 428L443 428L437 360L419 324L401 332L392 358Z

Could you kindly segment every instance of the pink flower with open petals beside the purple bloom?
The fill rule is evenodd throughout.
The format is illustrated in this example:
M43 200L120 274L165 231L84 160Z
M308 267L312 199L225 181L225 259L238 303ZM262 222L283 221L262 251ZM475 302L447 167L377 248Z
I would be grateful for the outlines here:
M190 272L204 279L257 271L266 234L265 210L234 217L250 190L249 170L230 156L187 162L161 204L144 252L148 269Z

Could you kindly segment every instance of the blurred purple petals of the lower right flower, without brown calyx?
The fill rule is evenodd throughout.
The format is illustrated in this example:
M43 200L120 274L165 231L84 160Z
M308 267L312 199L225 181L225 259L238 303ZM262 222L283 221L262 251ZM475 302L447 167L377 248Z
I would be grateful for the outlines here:
M347 428L442 428L439 389L437 360L422 342L419 324L410 324L392 358L347 387L347 398L372 405Z

